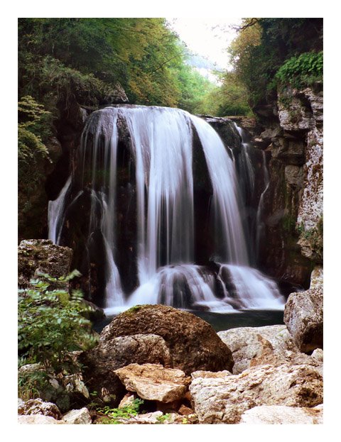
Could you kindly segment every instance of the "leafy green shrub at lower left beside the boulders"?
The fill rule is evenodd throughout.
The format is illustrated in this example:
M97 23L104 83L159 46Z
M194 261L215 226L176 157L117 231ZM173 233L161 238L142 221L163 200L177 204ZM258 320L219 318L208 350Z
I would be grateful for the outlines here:
M40 274L31 281L33 288L19 291L18 350L26 363L41 363L56 373L72 372L77 364L70 352L96 343L91 322L83 316L91 308L82 302L82 293L49 290L51 284L65 285L77 275L76 270L60 278Z

